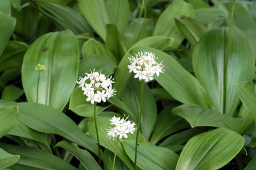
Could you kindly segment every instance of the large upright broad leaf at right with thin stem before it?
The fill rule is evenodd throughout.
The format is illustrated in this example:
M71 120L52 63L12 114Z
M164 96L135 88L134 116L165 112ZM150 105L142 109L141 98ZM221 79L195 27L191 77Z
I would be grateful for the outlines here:
M234 83L252 81L254 58L245 35L238 29L213 29L202 37L193 54L194 72L209 96L212 108L234 116L240 103Z

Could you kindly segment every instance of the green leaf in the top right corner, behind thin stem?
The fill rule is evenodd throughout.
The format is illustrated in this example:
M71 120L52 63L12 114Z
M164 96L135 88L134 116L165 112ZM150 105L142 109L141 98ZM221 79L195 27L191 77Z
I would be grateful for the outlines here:
M232 4L233 3L223 3L229 13L231 13ZM227 24L229 23L230 16L227 18ZM256 35L254 31L256 29L256 21L253 20L248 11L238 3L236 3L234 9L233 24L246 35L252 48L254 58L256 58Z

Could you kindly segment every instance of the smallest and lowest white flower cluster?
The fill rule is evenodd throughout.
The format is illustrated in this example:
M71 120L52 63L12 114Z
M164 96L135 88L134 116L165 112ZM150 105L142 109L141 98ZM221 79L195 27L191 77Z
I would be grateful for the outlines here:
M129 117L129 116L128 116ZM115 127L114 128L110 128L107 129L107 137L109 137L109 139L116 137L119 137L119 139L124 138L128 138L127 133L133 133L135 131L136 128L134 128L134 126L136 125L135 123L131 123L131 121L126 121L127 118L125 118L125 116L120 120L120 117L112 117L110 119L110 124L114 124Z

